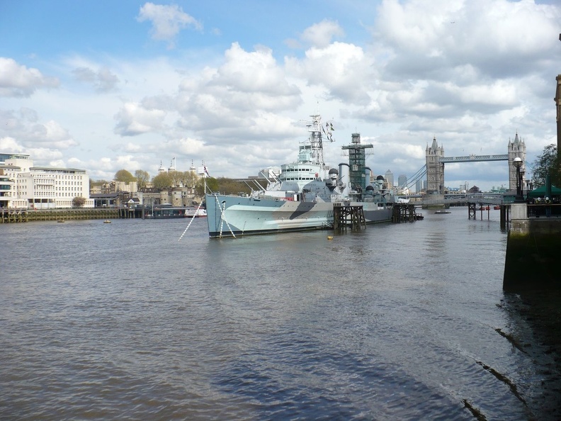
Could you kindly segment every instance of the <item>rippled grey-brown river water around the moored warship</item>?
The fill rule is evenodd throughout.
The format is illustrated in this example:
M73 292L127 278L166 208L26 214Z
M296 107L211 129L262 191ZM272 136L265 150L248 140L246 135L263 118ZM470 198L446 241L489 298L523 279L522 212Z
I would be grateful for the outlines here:
M560 419L559 324L502 291L499 211L424 215L0 225L0 419Z

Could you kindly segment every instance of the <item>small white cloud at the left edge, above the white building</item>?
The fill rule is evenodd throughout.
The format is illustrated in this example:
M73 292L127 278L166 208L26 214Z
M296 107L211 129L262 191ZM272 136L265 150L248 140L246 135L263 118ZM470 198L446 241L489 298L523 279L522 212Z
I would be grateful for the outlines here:
M0 57L0 96L30 96L37 89L57 87L58 79L45 77L38 69Z

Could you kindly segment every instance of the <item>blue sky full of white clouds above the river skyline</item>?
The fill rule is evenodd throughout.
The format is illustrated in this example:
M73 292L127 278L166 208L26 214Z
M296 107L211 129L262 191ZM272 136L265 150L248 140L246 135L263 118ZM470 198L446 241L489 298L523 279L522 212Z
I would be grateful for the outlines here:
M557 143L561 6L538 0L0 0L0 152L35 166L245 178L293 162L319 113L325 159L361 133L375 175ZM507 162L445 184L508 186Z

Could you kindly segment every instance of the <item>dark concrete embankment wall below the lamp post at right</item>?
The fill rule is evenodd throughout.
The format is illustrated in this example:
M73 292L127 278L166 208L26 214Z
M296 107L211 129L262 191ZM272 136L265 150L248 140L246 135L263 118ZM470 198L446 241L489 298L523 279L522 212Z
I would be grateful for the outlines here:
M506 245L504 291L561 287L561 219L512 220Z

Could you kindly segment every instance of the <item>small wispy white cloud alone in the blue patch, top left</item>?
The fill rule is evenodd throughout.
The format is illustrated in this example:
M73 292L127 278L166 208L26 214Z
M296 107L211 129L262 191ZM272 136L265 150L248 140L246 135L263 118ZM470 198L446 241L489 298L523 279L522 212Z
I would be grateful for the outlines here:
M162 4L145 3L140 8L137 20L152 22L152 38L154 40L169 41L169 47L174 47L174 39L179 31L187 26L202 30L203 25L193 16L183 12L176 4L166 6Z

